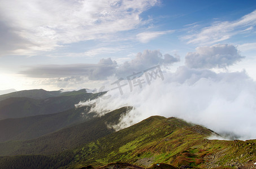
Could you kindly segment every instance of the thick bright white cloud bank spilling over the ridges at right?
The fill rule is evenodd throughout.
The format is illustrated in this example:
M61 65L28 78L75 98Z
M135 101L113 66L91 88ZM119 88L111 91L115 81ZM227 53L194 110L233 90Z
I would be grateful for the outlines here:
M203 47L204 50L199 50L200 58L203 61L207 60L209 49L213 52L219 51L212 50L214 47L216 46ZM228 50L227 54L239 56L239 59L210 59L211 66L206 68L218 66L220 63L225 66L232 65L234 61L241 59L234 50L235 47L218 47L224 47ZM176 72L163 69L164 80L155 78L150 85L134 85L132 91L131 86L123 86L123 95L119 90L110 90L106 94L108 99L102 97L93 110L102 113L122 106L134 106L134 109L114 126L118 130L151 115L163 115L183 118L220 134L236 136L238 139L256 139L256 82L245 71L216 73L199 67L200 69L195 69L184 65ZM109 88L113 88L113 85ZM91 103L81 103L86 104Z

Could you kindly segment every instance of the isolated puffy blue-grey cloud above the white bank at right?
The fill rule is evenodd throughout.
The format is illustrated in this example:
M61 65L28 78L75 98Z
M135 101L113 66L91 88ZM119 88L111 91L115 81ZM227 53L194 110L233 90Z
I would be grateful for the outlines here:
M197 47L196 52L189 52L185 64L189 68L226 68L240 61L243 56L233 45L217 44Z

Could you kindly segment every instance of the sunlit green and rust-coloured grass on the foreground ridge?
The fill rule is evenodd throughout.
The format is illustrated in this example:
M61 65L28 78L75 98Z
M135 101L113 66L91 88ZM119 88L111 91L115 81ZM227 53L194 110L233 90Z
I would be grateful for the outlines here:
M96 161L104 159L103 165L106 162L117 161L136 163L138 159L154 157L153 163L167 163L177 167L184 165L203 167L208 162L206 157L218 154L216 162L212 165L225 166L232 158L246 153L246 149L255 150L252 146L255 140L246 145L244 141L239 141L237 145L240 145L241 151L233 154L236 149L233 141L205 139L210 134L212 131L207 128L194 126L181 119L150 117L134 126L99 139L93 150L85 145L84 150L80 152L84 154L81 161L88 165L94 164L88 159ZM88 151L93 151L93 154L85 154ZM247 156L245 155L244 158ZM255 154L253 159L256 160ZM239 162L246 161L239 158ZM101 161L97 161L97 164L99 163Z

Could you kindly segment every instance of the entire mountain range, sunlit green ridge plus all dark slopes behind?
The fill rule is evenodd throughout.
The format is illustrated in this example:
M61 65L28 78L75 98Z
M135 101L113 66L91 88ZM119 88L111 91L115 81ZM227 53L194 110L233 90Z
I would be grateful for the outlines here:
M123 130L125 106L76 108L104 93L28 90L0 96L0 168L255 168L256 140L210 140L209 128L152 116Z

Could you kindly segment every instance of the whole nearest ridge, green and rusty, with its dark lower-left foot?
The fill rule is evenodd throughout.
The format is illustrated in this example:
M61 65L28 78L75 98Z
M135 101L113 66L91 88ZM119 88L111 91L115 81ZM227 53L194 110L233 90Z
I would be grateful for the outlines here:
M109 123L114 122L113 117L116 116L110 114ZM112 162L126 162L142 167L150 167L156 163L180 168L254 167L256 140L207 140L206 137L211 134L211 130L181 119L153 116L58 154L2 157L0 166L8 168L17 164L22 168L26 165L36 166L40 161L47 164L47 168L97 167ZM153 165L151 168L158 167Z

